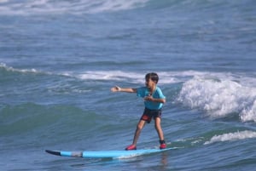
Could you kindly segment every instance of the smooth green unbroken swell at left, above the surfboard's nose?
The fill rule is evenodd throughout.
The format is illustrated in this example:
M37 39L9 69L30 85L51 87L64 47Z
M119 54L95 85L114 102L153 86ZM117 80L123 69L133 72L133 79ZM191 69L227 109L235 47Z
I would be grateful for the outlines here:
M49 131L56 133L55 136L63 132L79 134L84 129L97 128L94 124L102 117L104 116L83 111L73 105L3 105L0 108L0 136L33 134L41 131L41 134ZM68 131L71 129L70 125L73 125L72 131Z

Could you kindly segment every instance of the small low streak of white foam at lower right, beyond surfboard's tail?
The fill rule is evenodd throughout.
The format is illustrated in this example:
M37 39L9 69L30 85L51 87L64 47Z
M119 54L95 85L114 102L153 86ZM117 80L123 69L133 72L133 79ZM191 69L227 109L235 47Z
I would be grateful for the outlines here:
M241 131L236 133L229 133L229 134L221 134L215 135L212 137L211 140L205 142L205 145L212 144L215 142L222 142L222 141L231 141L231 140L245 140L245 139L253 139L256 138L256 132L253 131Z

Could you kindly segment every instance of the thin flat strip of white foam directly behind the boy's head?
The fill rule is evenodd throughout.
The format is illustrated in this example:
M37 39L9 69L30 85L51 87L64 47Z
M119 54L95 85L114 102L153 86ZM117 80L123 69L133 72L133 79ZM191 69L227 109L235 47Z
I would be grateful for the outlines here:
M220 79L227 80L233 83L239 83L241 86L247 85L254 87L256 85L256 78L243 77L230 73L218 72L201 72L201 71L156 71L160 77L160 84L169 83L183 83L188 82L192 78L215 80L218 82ZM84 71L79 74L66 72L63 75L75 76L80 79L90 80L115 80L115 81L132 81L133 83L144 83L145 72L132 72L132 71ZM238 78L237 78L238 77Z

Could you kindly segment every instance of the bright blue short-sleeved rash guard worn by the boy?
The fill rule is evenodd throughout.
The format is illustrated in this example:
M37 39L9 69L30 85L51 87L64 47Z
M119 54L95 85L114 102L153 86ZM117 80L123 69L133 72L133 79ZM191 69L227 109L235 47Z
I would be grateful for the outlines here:
M149 95L149 91L147 87L137 88L137 96L138 97L146 97ZM159 87L156 87L154 93L152 94L154 99L166 99L166 96L162 93ZM162 108L163 103L158 103L150 100L144 100L144 105L146 108L150 110L159 110Z

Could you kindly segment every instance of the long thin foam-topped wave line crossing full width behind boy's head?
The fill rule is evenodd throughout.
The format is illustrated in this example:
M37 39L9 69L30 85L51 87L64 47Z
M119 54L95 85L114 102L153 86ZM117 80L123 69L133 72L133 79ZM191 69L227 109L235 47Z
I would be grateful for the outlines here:
M90 64L89 64L90 65ZM63 77L73 77L79 80L105 80L122 81L132 83L144 83L145 74L148 71L40 71L38 69L19 69L0 63L0 73L36 73L43 75L54 75ZM241 84L245 88L253 88L256 85L256 73L229 73L229 72L208 72L208 71L156 71L160 76L160 84L184 83L184 88L189 83L212 83L213 85L228 86L229 82L236 86ZM220 83L220 84L219 84ZM236 85L235 85L236 84ZM209 85L210 86L210 85Z

